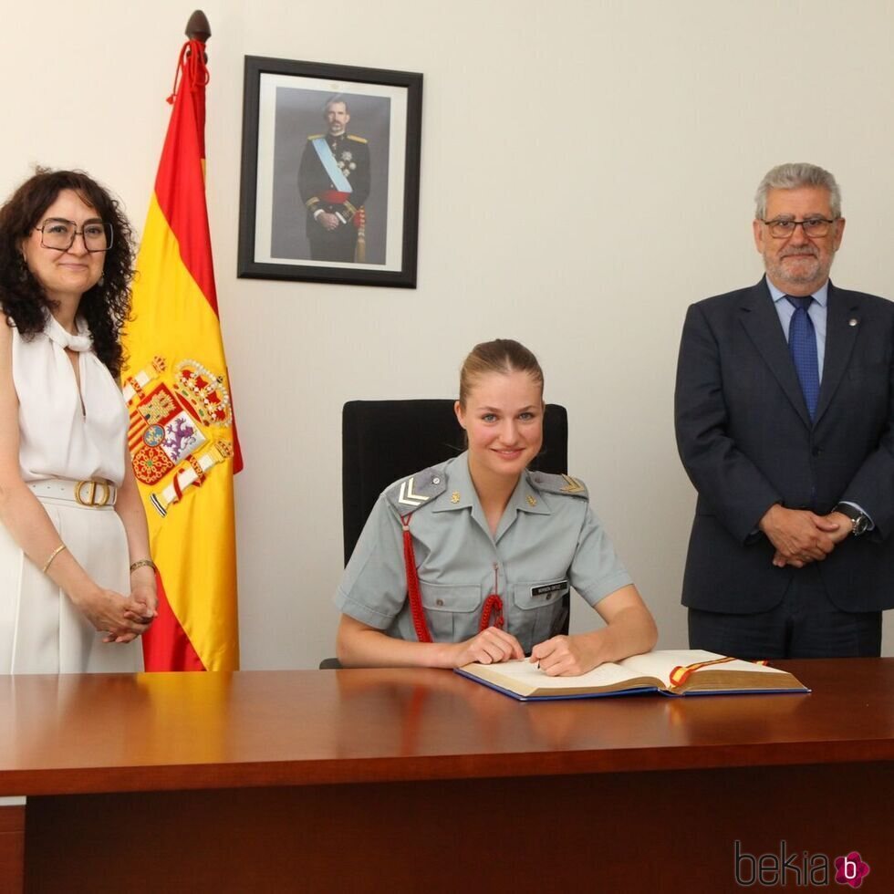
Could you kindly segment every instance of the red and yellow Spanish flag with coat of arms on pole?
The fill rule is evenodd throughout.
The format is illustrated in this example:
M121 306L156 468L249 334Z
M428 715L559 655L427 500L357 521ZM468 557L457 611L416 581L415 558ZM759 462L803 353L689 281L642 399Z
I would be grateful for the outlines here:
M205 45L182 48L126 327L130 455L158 567L146 670L239 666L233 475L241 467L205 205Z

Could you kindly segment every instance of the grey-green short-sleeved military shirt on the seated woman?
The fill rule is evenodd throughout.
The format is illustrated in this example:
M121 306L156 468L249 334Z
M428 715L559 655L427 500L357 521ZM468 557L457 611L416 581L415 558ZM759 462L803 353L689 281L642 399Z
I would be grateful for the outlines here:
M435 642L473 637L495 586L504 629L528 653L561 631L569 586L595 606L632 583L582 484L523 473L494 536L462 453L379 496L338 587L342 612L397 639L416 639L400 525L400 515L409 513L422 608Z

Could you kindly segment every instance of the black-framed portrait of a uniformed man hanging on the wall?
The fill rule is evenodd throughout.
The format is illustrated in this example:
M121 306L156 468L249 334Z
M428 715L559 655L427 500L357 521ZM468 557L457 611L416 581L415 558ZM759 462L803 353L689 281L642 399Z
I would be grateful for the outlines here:
M349 115L350 142L335 153L326 147L330 103L344 103L334 108ZM421 120L421 74L246 56L236 275L415 288ZM338 165L338 184L328 182L333 169L326 164ZM348 192L317 189L321 200L314 192L320 178ZM367 196L360 215L349 203L353 187ZM348 240L340 247L312 229L322 227L324 208ZM326 256L338 252L353 256Z

